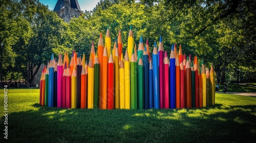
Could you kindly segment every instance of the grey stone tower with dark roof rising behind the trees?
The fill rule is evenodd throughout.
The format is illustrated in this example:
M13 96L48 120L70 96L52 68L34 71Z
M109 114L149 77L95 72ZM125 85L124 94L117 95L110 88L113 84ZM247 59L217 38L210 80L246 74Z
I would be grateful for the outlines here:
M73 17L79 17L82 13L77 0L58 0L54 10L65 22Z

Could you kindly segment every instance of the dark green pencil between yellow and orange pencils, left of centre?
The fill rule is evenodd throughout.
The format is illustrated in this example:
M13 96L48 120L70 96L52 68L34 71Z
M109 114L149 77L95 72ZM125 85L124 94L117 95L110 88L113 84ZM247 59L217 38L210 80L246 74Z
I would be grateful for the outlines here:
M94 91L93 91L93 108L99 107L99 58L96 54L94 61Z

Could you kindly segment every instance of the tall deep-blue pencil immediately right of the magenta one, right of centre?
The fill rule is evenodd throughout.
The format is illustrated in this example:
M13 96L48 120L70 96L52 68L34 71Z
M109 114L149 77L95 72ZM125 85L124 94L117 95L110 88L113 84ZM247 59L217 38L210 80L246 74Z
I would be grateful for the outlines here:
M176 66L175 66L175 52L174 52L174 44L172 46L172 51L170 52L170 66L169 66L169 89L170 92L170 108L176 108Z

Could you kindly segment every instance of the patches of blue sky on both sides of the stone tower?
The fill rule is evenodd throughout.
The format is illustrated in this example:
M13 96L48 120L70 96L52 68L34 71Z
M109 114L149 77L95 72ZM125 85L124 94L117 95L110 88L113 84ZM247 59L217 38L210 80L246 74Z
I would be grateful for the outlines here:
M46 6L48 5L50 10L53 10L57 3L57 0L39 0L39 1L40 3ZM93 10L93 8L98 4L99 1L100 0L78 0L78 3L82 11L85 11L85 10L90 11L90 10Z

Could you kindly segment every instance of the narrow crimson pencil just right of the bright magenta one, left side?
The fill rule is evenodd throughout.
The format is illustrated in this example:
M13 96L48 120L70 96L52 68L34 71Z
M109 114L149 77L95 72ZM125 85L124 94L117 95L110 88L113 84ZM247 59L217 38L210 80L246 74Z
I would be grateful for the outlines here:
M64 64L64 70L62 75L62 95L60 99L60 107L66 108L66 99L67 99L67 62Z

